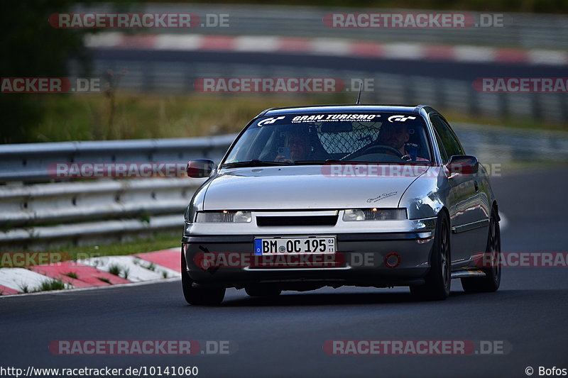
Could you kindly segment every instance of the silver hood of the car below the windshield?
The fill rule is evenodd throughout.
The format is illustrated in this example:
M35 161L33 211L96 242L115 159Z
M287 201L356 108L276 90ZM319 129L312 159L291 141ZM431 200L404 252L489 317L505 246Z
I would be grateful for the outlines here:
M341 174L330 174L329 165L222 169L209 182L203 209L397 207L405 190L428 169L408 167L411 172L378 174L383 172L378 169L372 176L350 174L357 172L353 166Z

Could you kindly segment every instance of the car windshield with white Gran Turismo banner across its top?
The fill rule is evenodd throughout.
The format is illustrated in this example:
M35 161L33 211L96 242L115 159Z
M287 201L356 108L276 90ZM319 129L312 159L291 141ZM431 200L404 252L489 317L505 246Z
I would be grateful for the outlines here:
M223 165L430 162L428 140L413 113L285 114L254 121Z

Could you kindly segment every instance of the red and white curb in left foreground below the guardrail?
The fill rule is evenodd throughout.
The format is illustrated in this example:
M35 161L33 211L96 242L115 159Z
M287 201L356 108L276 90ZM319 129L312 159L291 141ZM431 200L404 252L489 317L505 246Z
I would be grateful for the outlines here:
M116 275L117 272L119 275ZM171 248L136 255L92 257L26 268L0 268L0 294L6 296L26 291L33 293L44 282L54 280L63 282L65 289L83 289L180 277L180 248Z

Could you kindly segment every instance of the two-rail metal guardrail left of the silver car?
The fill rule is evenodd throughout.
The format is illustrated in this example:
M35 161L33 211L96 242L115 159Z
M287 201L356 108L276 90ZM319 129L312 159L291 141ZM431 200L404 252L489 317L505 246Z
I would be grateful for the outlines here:
M70 181L50 176L48 167L219 161L234 137L0 145L0 250L125 240L164 231L181 235L183 211L204 179Z

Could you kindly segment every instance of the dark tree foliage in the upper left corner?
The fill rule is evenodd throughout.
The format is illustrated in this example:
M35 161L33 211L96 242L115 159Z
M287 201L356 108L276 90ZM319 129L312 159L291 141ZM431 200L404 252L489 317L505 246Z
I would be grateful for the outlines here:
M0 11L1 77L65 77L67 61L87 62L82 38L87 30L56 29L52 13L70 11L69 0L8 0ZM58 94L0 94L0 143L28 140L28 130L45 110L45 96Z

